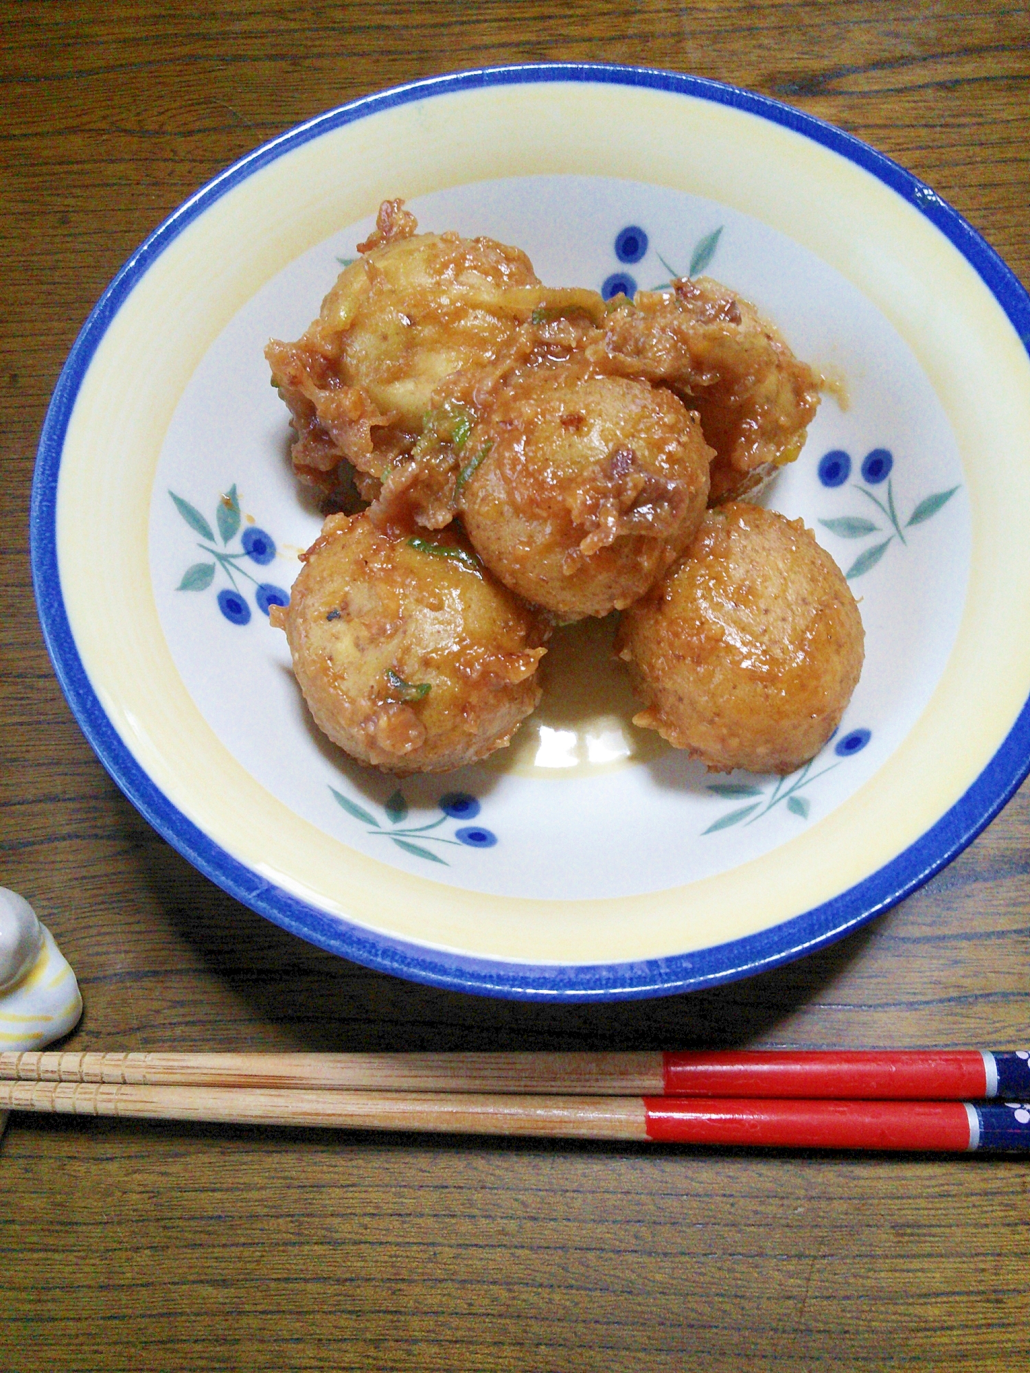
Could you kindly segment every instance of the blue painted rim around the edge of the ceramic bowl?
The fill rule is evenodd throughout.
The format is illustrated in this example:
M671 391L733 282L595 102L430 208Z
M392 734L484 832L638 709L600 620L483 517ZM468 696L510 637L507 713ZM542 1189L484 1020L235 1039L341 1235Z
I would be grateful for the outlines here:
M998 254L930 187L882 152L821 119L722 82L643 67L547 63L485 67L431 77L330 110L247 154L185 200L125 262L82 325L44 420L32 490L33 585L58 680L104 768L150 824L231 897L331 953L430 986L520 1001L615 1001L672 995L733 982L813 953L882 914L939 872L994 818L1030 772L1030 699L968 791L916 843L831 901L759 934L669 958L571 965L507 962L438 951L330 916L268 883L209 839L154 785L104 714L78 656L58 574L58 478L78 390L122 302L169 243L227 191L283 154L331 129L394 106L456 91L548 81L650 86L732 106L792 129L858 163L916 206L954 244L1030 351L1030 297Z

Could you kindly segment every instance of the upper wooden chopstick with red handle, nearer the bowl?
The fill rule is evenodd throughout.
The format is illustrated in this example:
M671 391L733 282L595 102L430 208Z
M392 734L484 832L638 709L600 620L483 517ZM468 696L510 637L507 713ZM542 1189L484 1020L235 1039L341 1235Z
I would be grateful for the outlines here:
M1026 1050L0 1053L0 1079L558 1096L1030 1100Z

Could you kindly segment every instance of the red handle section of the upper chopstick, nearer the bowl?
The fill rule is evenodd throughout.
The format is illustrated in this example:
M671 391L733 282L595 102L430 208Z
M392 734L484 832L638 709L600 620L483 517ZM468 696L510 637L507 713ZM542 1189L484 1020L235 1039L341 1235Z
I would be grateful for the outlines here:
M978 1049L716 1049L662 1054L667 1097L894 1101L968 1101L994 1096L998 1078L994 1057Z

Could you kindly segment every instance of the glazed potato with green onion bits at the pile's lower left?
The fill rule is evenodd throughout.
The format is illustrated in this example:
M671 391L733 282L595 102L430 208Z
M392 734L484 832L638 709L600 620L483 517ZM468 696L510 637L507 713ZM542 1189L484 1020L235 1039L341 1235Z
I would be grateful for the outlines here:
M455 535L391 540L331 515L287 607L294 673L319 728L386 772L442 772L508 743L537 704L545 623Z

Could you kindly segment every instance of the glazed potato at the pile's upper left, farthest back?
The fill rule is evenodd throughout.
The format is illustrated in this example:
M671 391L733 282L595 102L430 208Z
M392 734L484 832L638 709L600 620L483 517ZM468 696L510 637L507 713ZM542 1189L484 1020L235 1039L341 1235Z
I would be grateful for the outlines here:
M265 350L293 413L294 467L323 489L341 459L382 476L415 443L438 383L488 362L531 309L519 288L540 287L519 249L416 227L401 200L385 202L319 319Z

